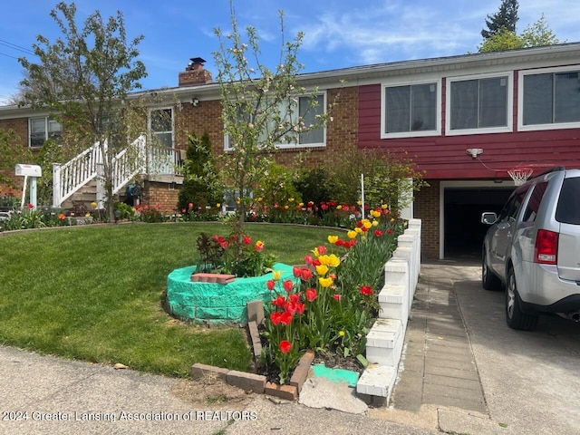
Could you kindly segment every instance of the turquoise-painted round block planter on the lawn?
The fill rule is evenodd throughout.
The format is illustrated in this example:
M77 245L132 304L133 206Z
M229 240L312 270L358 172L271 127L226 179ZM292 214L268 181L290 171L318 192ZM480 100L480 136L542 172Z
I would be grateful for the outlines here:
M292 273L292 266L276 263L275 271L282 272L281 280L300 281ZM170 314L197 323L247 324L247 303L272 301L273 294L266 282L272 273L251 278L236 278L228 284L192 282L195 266L175 269L167 278L167 301Z

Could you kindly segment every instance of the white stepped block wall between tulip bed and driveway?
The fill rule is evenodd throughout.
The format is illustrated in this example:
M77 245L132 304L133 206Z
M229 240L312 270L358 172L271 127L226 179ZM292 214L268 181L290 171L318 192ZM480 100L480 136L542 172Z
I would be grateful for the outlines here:
M379 293L381 311L367 335L369 366L356 384L356 392L391 400L415 288L420 274L420 219L409 219L397 239L397 249L384 266Z

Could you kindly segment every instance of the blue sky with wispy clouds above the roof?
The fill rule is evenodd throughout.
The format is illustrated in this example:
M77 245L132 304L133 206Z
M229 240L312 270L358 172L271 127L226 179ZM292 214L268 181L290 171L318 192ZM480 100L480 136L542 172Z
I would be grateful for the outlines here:
M49 13L56 0L19 0L3 5L0 28L0 104L17 91L22 67L16 58L34 62L36 36L51 42L60 31ZM251 24L261 38L262 63L274 68L281 46L278 10L285 13L285 37L304 32L298 60L304 73L336 68L424 59L476 52L487 14L501 0L235 0L240 27ZM98 9L106 19L121 10L128 38L143 34L140 60L147 67L144 89L174 87L190 57L203 57L216 72L213 33L230 29L229 0L77 0L77 21ZM544 13L561 42L580 42L580 2L520 0L518 33ZM82 24L80 24L82 26Z

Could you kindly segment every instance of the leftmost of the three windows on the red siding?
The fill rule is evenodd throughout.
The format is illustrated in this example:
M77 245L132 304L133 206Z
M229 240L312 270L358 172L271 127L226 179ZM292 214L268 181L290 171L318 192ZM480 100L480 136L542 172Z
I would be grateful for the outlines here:
M437 82L383 88L382 138L440 133Z

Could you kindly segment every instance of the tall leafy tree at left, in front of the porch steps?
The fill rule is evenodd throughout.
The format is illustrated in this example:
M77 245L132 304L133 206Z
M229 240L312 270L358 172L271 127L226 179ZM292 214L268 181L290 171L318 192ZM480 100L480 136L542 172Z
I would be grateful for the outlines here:
M147 75L145 65L137 60L137 45L143 36L127 40L120 11L107 21L96 11L84 21L82 29L75 14L74 3L56 5L50 15L62 37L51 43L38 35L33 45L38 62L20 59L25 69L21 82L26 91L24 101L34 108L50 109L63 123L63 136L74 138L85 148L100 144L102 178L112 221L112 159L117 150L127 146L130 133L130 102L126 97L140 88L140 79Z

